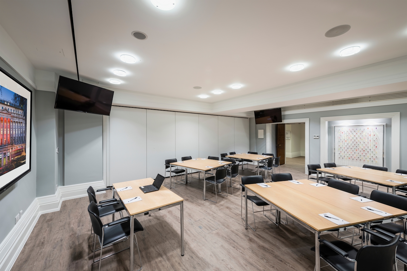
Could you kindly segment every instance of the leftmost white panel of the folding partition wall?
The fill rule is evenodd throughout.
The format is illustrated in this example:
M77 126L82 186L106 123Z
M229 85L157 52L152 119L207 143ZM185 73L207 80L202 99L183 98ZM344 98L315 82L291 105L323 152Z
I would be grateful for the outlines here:
M147 178L146 109L112 106L110 183Z

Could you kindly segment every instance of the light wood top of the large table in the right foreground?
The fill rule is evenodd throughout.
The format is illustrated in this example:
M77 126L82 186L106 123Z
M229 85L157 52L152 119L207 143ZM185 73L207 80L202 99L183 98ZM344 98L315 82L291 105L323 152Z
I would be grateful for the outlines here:
M380 205L377 202L366 202L363 206L361 206L359 202L349 199L352 194L338 193L338 191L335 191L337 189L328 186L311 186L307 184L308 182L305 182L308 180L298 181L304 182L304 184L293 184L285 181L267 183L271 186L269 188L263 188L258 184L248 184L245 186L249 190L252 190L254 193L260 195L267 201L278 206L278 208L284 210L288 214L319 232L345 227L346 225L355 225L383 219L383 217L380 215L376 215L372 212L361 209L363 206L372 206L380 210L388 210L389 212L391 210L392 212L390 213L392 215L407 214L407 212L404 210L399 210L383 204ZM293 187L291 187L291 184ZM309 186L309 188L306 186ZM312 189L317 192L313 192ZM321 189L324 189L324 191ZM346 198L348 198L349 201ZM359 209L363 212L361 212ZM326 212L330 212L331 214L348 221L349 224L337 225L319 215Z

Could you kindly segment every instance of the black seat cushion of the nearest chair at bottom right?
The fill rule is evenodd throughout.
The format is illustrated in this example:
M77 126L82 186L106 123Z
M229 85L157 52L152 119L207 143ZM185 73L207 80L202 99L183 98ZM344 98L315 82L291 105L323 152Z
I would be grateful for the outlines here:
M356 258L357 249L352 247L350 244L340 240L331 241L331 243L348 253L349 258ZM315 251L315 247L311 247L311 250ZM343 256L337 254L335 251L333 251L323 243L321 243L319 246L319 254L321 255L322 259L324 259L328 264L333 265L338 271L354 270L354 262L351 262L350 260L347 260Z

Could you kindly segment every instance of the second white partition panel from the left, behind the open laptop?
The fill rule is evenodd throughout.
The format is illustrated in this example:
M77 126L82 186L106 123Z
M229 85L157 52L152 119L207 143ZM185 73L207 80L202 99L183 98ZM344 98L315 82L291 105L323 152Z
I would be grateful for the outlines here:
M147 109L147 177L164 176L166 159L175 158L175 112Z

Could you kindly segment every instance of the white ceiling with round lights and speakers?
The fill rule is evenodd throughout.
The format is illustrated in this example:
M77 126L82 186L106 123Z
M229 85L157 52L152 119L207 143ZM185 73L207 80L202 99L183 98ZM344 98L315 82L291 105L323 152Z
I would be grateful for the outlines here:
M72 9L82 78L174 98L218 102L407 55L407 1L178 0L162 11L150 0L73 0ZM0 24L36 69L76 74L66 0L2 0ZM341 24L348 33L324 36ZM339 56L349 46L361 52ZM127 64L120 54L141 61ZM288 70L299 63L306 68Z

